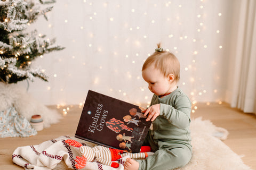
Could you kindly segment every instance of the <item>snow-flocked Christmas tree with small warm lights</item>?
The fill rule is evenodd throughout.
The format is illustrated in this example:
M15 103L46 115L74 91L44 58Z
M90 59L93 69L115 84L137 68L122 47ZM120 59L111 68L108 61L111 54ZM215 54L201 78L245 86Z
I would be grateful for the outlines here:
M52 6L41 9L52 1L0 0L0 81L17 83L38 77L47 81L44 70L31 68L31 62L43 54L63 49L54 45L55 39L46 38L37 30L26 32L38 16L52 10Z

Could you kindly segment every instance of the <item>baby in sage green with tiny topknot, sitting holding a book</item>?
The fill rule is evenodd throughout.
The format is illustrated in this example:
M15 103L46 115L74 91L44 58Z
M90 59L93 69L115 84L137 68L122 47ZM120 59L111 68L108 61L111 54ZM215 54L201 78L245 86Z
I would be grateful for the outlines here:
M155 154L143 160L128 158L125 170L175 169L191 159L191 102L177 86L180 63L160 44L157 46L142 66L142 77L154 94L144 114L148 115L146 121L153 122L153 130L149 130L143 145L150 146Z

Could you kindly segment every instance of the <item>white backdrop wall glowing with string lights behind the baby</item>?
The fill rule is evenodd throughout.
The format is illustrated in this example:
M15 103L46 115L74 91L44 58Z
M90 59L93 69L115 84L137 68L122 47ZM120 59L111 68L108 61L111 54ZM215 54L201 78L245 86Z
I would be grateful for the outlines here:
M57 0L49 21L31 25L66 47L38 58L49 82L29 83L45 105L83 103L89 89L134 104L150 103L141 76L161 42L180 60L179 86L197 102L225 99L232 0ZM26 87L27 82L22 82Z

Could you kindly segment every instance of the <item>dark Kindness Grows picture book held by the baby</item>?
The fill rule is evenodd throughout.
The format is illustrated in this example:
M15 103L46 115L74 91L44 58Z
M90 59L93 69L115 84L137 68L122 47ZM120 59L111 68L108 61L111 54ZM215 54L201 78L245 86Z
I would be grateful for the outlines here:
M89 90L75 137L126 152L140 152L150 128L146 108Z

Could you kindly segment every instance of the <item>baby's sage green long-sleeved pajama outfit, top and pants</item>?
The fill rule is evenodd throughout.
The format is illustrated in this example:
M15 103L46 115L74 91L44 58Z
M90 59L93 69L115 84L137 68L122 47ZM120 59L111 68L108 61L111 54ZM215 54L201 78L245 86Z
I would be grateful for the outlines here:
M160 104L160 115L153 122L143 143L155 152L145 160L138 160L140 170L174 169L186 165L191 159L190 137L191 103L178 87L170 95L154 95L151 105Z

